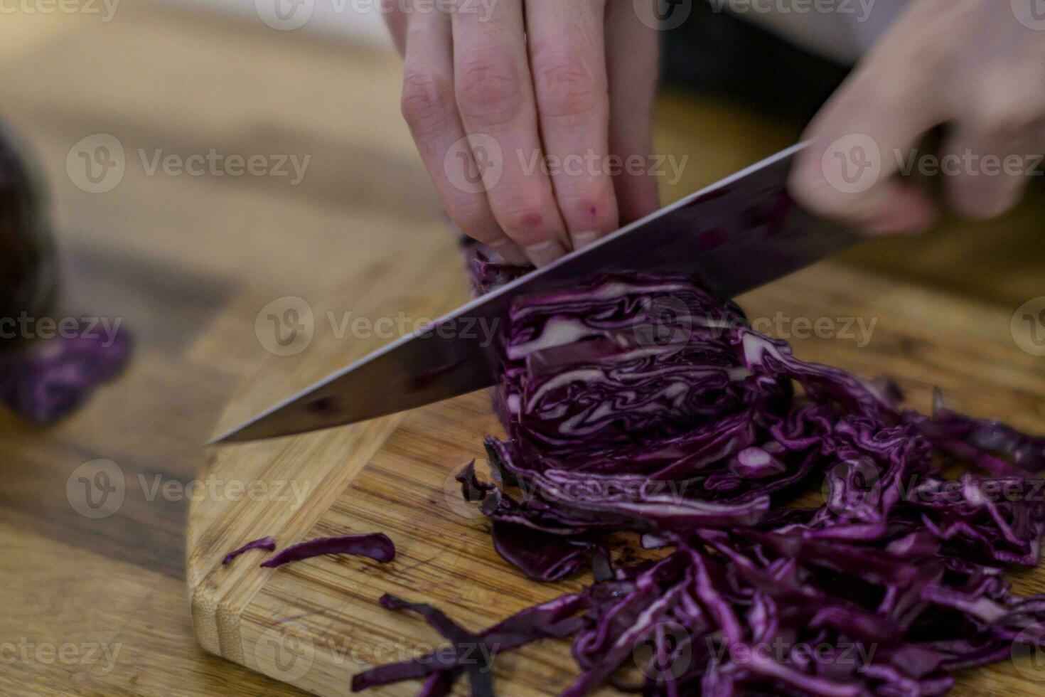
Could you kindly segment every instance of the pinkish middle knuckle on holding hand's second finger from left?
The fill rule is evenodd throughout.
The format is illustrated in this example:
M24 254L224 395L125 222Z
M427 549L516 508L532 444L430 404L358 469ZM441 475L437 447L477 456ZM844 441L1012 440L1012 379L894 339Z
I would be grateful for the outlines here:
M474 124L501 125L514 119L522 107L524 87L519 69L500 50L472 49L461 57L457 100L462 115Z

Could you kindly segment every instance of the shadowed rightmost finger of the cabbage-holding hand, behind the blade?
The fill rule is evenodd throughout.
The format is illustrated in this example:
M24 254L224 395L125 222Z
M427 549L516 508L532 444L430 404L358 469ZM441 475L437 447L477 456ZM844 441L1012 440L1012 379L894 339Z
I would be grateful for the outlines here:
M657 180L648 166L625 166L628 158L648 163L653 154L653 96L659 70L659 32L644 24L631 3L606 6L606 65L609 73L609 153L621 224L660 207ZM620 164L620 166L617 166Z

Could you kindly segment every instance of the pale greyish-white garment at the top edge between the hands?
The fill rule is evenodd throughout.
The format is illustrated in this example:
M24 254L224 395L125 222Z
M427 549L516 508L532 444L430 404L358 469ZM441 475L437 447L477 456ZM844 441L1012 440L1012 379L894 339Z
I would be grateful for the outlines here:
M856 63L889 27L907 0L707 0L842 64Z

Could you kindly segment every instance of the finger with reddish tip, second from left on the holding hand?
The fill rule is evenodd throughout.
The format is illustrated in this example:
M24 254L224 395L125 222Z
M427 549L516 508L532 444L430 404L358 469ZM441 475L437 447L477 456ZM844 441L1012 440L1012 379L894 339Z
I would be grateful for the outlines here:
M522 2L501 0L485 16L475 6L462 3L454 13L458 109L477 161L495 160L487 170L496 176L484 181L494 217L533 263L544 265L566 253L566 232L540 166Z

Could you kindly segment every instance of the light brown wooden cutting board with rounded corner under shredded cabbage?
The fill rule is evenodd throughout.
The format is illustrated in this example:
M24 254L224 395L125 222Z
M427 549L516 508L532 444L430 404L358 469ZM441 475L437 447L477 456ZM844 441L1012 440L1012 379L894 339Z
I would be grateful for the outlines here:
M401 310L431 318L465 298L454 255L448 245L403 255L395 266L351 279L339 298L358 299L348 306L353 317L395 318ZM417 278L443 291L420 295ZM1011 310L836 263L752 293L741 304L758 328L790 339L803 358L895 376L920 410L939 386L955 409L1045 432L1045 358L1018 347ZM802 318L809 326L818 319L821 327L833 323L821 333L835 335L797 338L807 331ZM295 359L274 356L248 381L215 432L382 343L317 331L307 351ZM207 496L190 510L187 575L202 646L308 692L345 695L352 674L441 645L421 621L379 607L385 593L432 602L481 628L587 581L527 580L493 552L482 516L460 503L452 474L473 458L482 461L482 437L498 432L488 396L477 393L353 426L216 449L202 479L256 488L236 501ZM394 540L394 562L321 557L264 570L258 567L264 553L250 552L220 564L230 550L265 535L283 548L375 531ZM1045 591L1041 570L1012 576L1020 593ZM500 694L557 694L576 674L567 649L565 642L543 642L498 657ZM1040 665L1003 661L962 674L954 694L1040 695L1043 680ZM417 688L402 683L379 694L412 695ZM466 690L462 680L458 693Z

